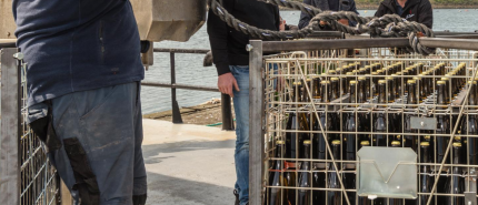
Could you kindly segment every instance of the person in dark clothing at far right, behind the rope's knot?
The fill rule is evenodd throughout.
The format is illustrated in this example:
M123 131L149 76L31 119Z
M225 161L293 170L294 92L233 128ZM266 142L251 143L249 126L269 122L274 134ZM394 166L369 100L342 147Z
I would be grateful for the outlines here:
M407 21L434 25L434 9L429 0L385 0L380 3L375 17L398 14Z

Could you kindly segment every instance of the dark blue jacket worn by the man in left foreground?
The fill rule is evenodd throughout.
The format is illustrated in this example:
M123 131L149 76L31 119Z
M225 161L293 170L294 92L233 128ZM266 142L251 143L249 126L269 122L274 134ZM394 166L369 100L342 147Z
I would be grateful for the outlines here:
M13 0L28 105L145 76L129 0Z

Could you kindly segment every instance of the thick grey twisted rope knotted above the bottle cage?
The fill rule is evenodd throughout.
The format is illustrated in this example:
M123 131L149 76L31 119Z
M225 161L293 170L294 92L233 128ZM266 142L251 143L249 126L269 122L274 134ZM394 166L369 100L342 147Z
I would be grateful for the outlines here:
M420 45L417 32L422 33L426 37L434 38L434 31L427 25L407 21L401 19L397 14L386 14L384 17L360 17L355 12L350 11L322 11L312 6L308 6L301 2L288 1L288 0L257 0L273 6L286 7L290 9L300 10L306 12L313 18L309 24L298 31L271 31L259 29L253 25L249 25L230 14L218 0L208 0L208 6L211 11L225 21L229 27L240 31L255 39L262 40L288 40L288 39L303 39L308 34L319 29L319 22L325 21L331 25L333 30L349 33L349 34L362 34L369 33L371 37L378 38L398 38L408 37L410 39L410 47L417 53L427 55L432 53L435 50ZM349 27L338 22L339 19L347 19L349 21L357 22L357 27Z

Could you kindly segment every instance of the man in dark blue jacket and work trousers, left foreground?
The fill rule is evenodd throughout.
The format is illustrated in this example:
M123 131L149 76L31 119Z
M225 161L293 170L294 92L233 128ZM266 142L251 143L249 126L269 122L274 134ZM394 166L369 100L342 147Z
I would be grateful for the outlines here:
M76 202L143 205L140 39L129 0L13 0L28 122Z

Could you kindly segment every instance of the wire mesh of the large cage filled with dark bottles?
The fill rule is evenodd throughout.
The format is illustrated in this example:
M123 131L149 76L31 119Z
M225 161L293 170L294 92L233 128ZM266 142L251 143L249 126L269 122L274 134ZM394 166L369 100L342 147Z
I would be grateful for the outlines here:
M430 204L439 204L439 201L444 199L440 196L457 196L457 197L465 197L464 193L454 193L454 194L446 194L444 192L437 192L440 191L444 182L444 178L449 177L451 175L459 176L460 180L465 181L465 191L470 192L475 191L476 187L471 187L471 183L476 182L476 178L474 178L476 168L478 168L478 164L470 164L469 160L469 148L465 145L467 143L468 139L471 137L478 137L478 135L474 135L470 133L460 133L459 126L465 121L465 124L468 125L468 119L470 116L477 115L477 107L476 105L468 105L468 94L467 92L470 86L468 82L470 80L474 80L476 78L476 70L477 70L477 53L472 51L465 51L465 50L447 50L447 49L440 49L438 50L437 54L430 55L427 58L424 58L421 55L416 54L402 54L405 52L397 50L397 49L367 49L367 50L360 50L360 51L350 51L350 50L321 50L321 51L309 51L309 52L293 52L293 53L282 53L282 54L276 54L276 55L269 55L265 58L265 102L266 102L266 160L265 165L268 170L265 173L265 187L266 187L266 204L269 204L268 196L270 195L272 189L279 188L282 195L289 194L290 192L295 192L295 195L297 196L299 194L299 191L309 191L308 194L310 194L310 197L313 198L315 194L318 194L320 196L327 196L329 192L341 192L341 203L340 204L349 204L350 202L358 203L359 196L357 196L357 189L356 188L349 188L345 187L340 180L340 187L338 188L331 188L328 183L325 183L322 186L313 186L312 182L310 182L308 187L298 187L299 186L299 174L307 172L310 174L321 173L320 176L325 177L325 182L328 182L328 173L336 172L338 173L339 178L347 177L348 174L356 175L356 164L357 161L347 161L345 160L343 148L345 148L345 135L351 134L355 135L355 146L358 151L359 148L359 141L358 137L366 137L369 139L370 145L374 146L374 139L376 135L384 134L387 136L387 146L390 146L389 137L395 136L396 139L404 139L402 136L406 135L414 135L418 140L418 144L420 144L421 141L425 137L430 137L430 144L431 147L437 147L437 139L438 137L445 137L445 139L457 139L460 142L464 143L464 150L466 151L466 161L465 163L460 164L452 164L451 160L449 163L444 162L437 162L437 152L432 151L434 157L432 163L421 163L419 160L421 158L421 151L420 148L417 150L417 166L421 167L425 165L429 165L431 167L431 173L417 173L418 174L418 187L421 186L421 178L425 176L434 176L437 183L432 184L434 187L428 193L422 193L420 189L418 189L418 204L427 204L428 202L425 202L420 196L424 195L430 195L432 193L432 203ZM357 64L350 64L350 63L357 63ZM429 72L428 74L418 75L411 74L411 75L405 75L404 72L400 73L394 73L390 72L390 70L384 69L384 72L381 74L375 74L372 75L371 71L368 71L367 73L359 74L353 73L351 76L353 80L358 80L359 76L366 76L368 83L370 83L370 93L375 93L376 84L374 82L376 79L382 80L391 74L395 74L395 79L398 79L401 82L407 82L407 80L411 80L414 78L420 78L417 82L417 92L419 93L421 90L421 84L424 80L428 79L431 83L431 91L430 94L422 100L422 102L419 102L417 104L407 104L407 92L404 89L400 90L399 98L395 100L394 102L387 102L385 104L379 104L377 96L371 96L367 99L366 103L349 103L348 98L348 91L342 90L342 83L339 83L339 90L341 91L339 99L336 99L335 101L330 103L323 103L321 100L315 100L311 95L311 86L312 84L307 83L306 86L306 79L312 79L319 76L322 80L330 80L330 78L349 78L350 75L346 75L345 73L340 72L340 68L348 65L352 66L353 69L364 68L365 65L370 65L374 63L379 63L381 68L388 68L389 65L392 65L395 63L402 63L404 70L405 68L417 65L419 63L422 64L422 71ZM464 72L462 75L445 75L445 74L436 74L436 72L431 72L437 65L445 66L445 73L450 73L451 71L456 70L460 66L460 63L464 65L464 69L466 72ZM337 71L338 69L338 71ZM333 72L336 71L336 72ZM452 101L450 104L448 104L445 109L440 109L439 105L437 105L437 89L436 84L437 81L441 80L441 78L448 78L449 80L461 80L460 84L460 92L457 95L452 94L452 86L451 83L447 84L448 94ZM303 85L303 89L306 90L306 93L309 95L309 101L307 102L299 102L298 96L299 91L297 89L293 89L292 82L301 82ZM451 81L450 81L451 82ZM406 83L405 83L406 84ZM386 96L389 95L389 84L387 83L386 89ZM328 88L329 89L329 88ZM356 91L357 93L357 91ZM295 107L297 106L297 107ZM308 119L308 127L309 130L299 130L298 126L296 126L295 130L287 130L287 121L290 116L290 113L297 113L296 114L296 121L298 122L300 117ZM367 131L362 132L350 132L345 131L345 117L347 117L350 113L355 113L356 122L360 121L368 121L369 122L369 129ZM400 126L398 132L391 132L390 126L387 126L387 130L385 133L377 133L374 132L372 124L376 120L376 114L384 113L385 115L389 114L396 114L400 116L400 121L397 125ZM331 122L329 119L331 116L333 122L338 126L335 126L335 129L327 130L327 127L320 127L316 130L311 130L310 127L313 126L312 122L315 120L320 121L320 116L325 115L326 122ZM438 117L440 115L448 116L450 120L454 120L454 122L450 123L450 132L449 133L437 133L437 131L422 131L422 130L416 130L416 133L407 133L405 130L405 121L407 115L414 115L414 116L428 116L428 117ZM359 119L360 116L360 119ZM365 119L364 119L365 117ZM459 119L462 119L461 121ZM337 122L338 121L338 122ZM400 124L401 123L401 124ZM319 123L320 124L320 123ZM321 126L321 125L320 125ZM326 139L336 139L340 140L340 158L333 158L331 160L331 151L330 151L330 140L328 144L328 154L326 154L325 160L317 160L312 158L312 151L315 150L313 143L310 145L310 154L309 158L286 158L285 152L280 153L281 157L275 157L275 147L277 140L287 141L288 137L296 135L296 150L299 150L299 142L297 142L299 139L299 134L306 134L306 140L310 140L313 142L316 137L321 137L321 135L327 136ZM458 139L461 137L462 140ZM454 140L449 141L447 143L447 153L446 156L448 158L454 157L452 148L451 148L451 142L455 142ZM405 143L401 143L401 146L405 146ZM286 147L287 148L287 147ZM271 163L275 161L293 161L292 163L285 163L287 166L295 166L296 170L287 170L283 168L281 171L272 170ZM300 164L302 162L309 162L311 163L311 170L310 171L300 171ZM454 167L460 167L462 172L459 174L451 173L451 170ZM335 171L338 170L338 171ZM418 168L420 170L420 168ZM286 177L285 174L288 172L295 173L295 186L271 186L269 182L269 175L279 173L281 177ZM470 174L471 173L471 174ZM350 177L350 176L349 176ZM312 177L309 177L312 178ZM439 183L438 183L439 182ZM451 183L454 183L454 177L451 177ZM438 185L438 186L437 186ZM319 192L317 192L319 191ZM321 193L325 192L325 193ZM347 194L343 194L347 193ZM292 194L293 195L293 194ZM349 198L351 197L351 198ZM351 199L351 201L350 201ZM286 204L283 198L281 198L280 204ZM298 197L295 199L295 204L298 204ZM388 202L388 199L386 201ZM320 201L320 203L311 202L310 204L328 204L327 197L323 201ZM409 203L405 201L405 203ZM292 202L293 204L293 202Z

